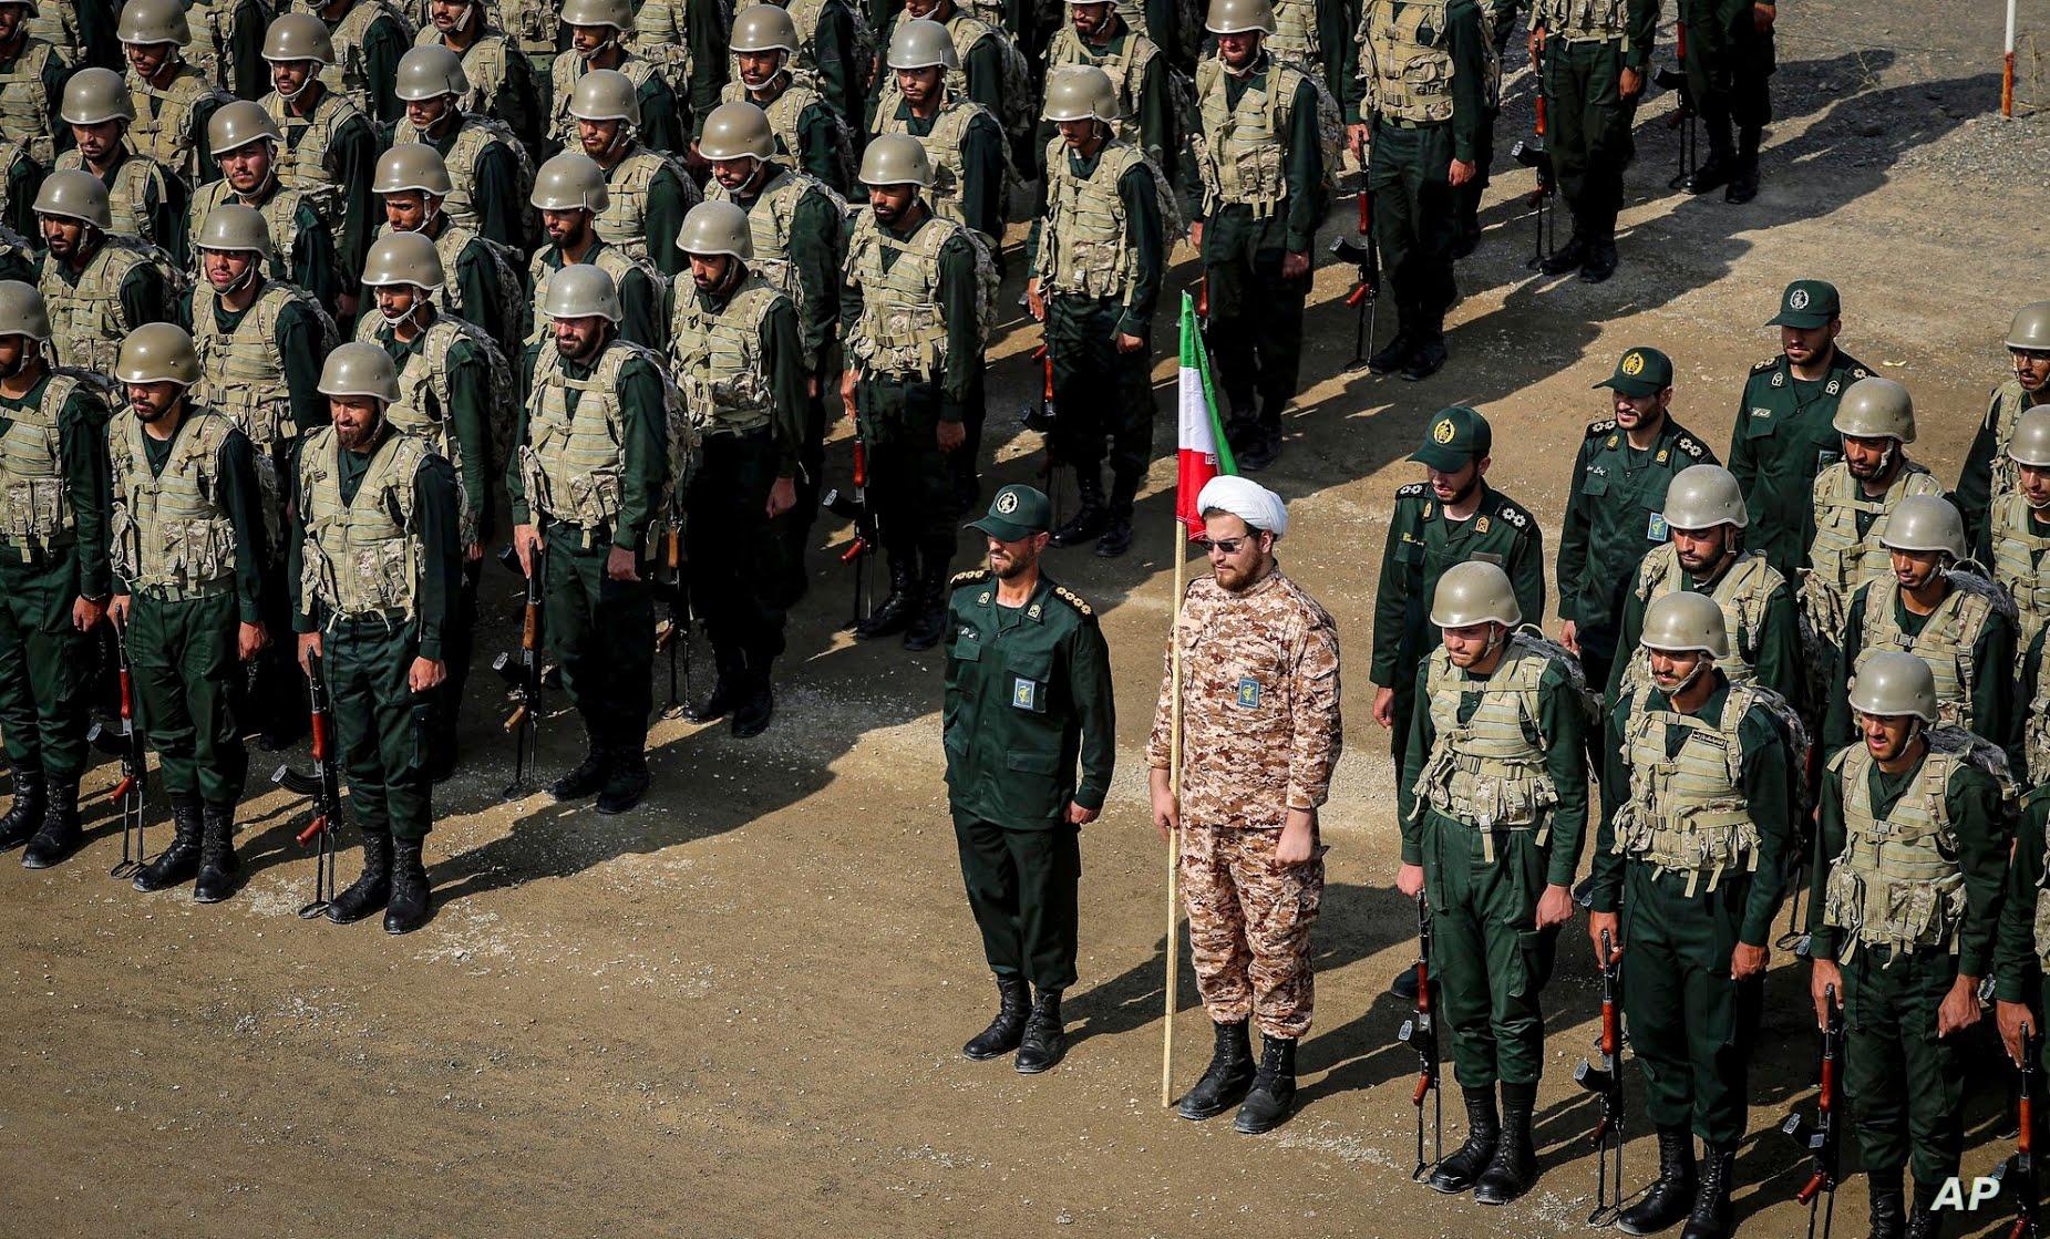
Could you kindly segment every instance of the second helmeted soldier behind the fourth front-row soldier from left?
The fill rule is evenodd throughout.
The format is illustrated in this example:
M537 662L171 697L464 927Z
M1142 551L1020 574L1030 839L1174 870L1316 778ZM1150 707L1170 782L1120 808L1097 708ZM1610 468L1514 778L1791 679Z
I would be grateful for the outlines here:
M689 270L676 231L699 201L697 182L679 160L640 139L633 80L617 70L590 70L576 80L570 115L576 117L578 149L605 170L599 240L652 262L668 279Z

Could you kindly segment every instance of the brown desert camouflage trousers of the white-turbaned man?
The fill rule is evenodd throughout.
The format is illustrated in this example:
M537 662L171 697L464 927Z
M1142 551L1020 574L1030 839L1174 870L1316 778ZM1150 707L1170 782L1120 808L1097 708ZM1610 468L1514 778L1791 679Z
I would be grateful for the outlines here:
M1324 848L1275 864L1281 831L1183 825L1181 895L1189 963L1203 1008L1220 1024L1255 1018L1263 1036L1310 1030L1316 977L1310 928L1324 899Z

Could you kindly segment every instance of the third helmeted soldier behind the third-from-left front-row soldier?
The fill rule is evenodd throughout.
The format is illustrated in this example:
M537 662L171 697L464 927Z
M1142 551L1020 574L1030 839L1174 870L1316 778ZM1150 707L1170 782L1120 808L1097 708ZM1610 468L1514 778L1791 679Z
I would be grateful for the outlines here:
M461 106L469 78L455 53L414 47L398 61L396 90L406 100L406 119L392 129L392 145L435 147L449 170L451 188L441 203L449 219L525 254L525 152L502 123Z

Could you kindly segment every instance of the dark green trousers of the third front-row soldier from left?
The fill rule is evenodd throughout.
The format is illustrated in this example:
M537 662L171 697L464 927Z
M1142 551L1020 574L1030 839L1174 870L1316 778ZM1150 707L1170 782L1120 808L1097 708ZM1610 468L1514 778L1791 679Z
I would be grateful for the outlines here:
M435 827L433 700L410 684L412 659L420 653L412 625L338 621L322 635L322 649L357 827L424 840Z

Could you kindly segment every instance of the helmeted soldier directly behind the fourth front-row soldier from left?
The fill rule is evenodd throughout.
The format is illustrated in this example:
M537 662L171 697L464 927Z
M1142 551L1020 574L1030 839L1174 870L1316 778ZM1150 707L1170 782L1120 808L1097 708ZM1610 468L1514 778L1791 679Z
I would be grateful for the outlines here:
M533 207L541 213L547 244L533 252L527 264L527 287L533 289L533 324L527 346L545 342L551 334L547 285L556 272L576 262L588 262L611 276L619 291L625 317L619 334L633 344L656 348L662 342L662 303L666 283L648 262L636 262L625 250L605 244L594 221L611 207L605 188L605 168L588 156L564 152L541 164L533 180Z

